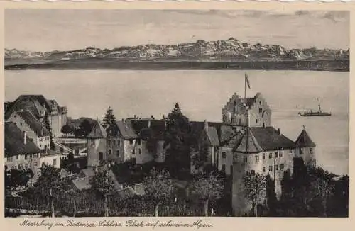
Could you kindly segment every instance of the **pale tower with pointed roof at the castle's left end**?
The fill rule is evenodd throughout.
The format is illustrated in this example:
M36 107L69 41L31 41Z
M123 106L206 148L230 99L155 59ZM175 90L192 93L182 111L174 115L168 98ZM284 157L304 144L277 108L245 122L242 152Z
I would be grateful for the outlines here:
M106 152L106 130L97 119L91 133L87 135L87 165L97 167L101 161L107 159Z

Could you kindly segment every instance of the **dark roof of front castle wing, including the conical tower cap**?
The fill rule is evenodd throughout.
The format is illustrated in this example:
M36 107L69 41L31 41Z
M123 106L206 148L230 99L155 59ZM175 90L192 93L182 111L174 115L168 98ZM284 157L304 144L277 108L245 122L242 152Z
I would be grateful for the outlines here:
M248 148L247 148L248 144ZM295 142L282 135L273 127L251 127L243 138L236 152L256 153L271 150L283 150L295 147Z

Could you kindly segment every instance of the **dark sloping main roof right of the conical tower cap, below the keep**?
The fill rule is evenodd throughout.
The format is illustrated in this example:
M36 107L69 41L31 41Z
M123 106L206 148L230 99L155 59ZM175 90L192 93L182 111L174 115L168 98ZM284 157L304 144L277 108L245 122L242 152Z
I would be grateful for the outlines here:
M264 151L282 150L295 147L295 142L282 135L273 127L252 127L253 136Z

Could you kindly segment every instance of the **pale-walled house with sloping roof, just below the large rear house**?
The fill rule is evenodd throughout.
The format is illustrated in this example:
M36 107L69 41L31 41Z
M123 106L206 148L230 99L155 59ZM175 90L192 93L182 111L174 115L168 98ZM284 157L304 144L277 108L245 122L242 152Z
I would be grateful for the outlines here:
M14 111L8 120L13 122L22 132L26 132L28 138L40 150L50 149L50 131L30 111Z

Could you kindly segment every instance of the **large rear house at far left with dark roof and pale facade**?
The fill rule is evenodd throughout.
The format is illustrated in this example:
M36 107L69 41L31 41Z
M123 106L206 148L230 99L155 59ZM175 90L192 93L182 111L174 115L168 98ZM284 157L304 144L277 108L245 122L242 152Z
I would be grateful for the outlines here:
M5 119L13 112L29 111L37 120L43 123L47 115L50 123L50 133L60 136L62 126L67 123L67 108L60 106L57 101L47 100L42 95L21 95L13 102L6 103Z

